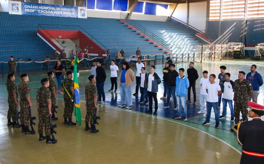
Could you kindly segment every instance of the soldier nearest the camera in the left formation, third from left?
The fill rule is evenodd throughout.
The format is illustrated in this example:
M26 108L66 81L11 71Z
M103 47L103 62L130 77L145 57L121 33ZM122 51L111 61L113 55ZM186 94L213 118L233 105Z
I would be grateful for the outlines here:
M51 113L51 92L48 90L49 81L47 78L41 80L42 87L37 91L37 109L39 114L39 123L38 123L38 134L39 141L44 139L46 143L52 143L51 140L51 129L49 122L49 115ZM43 126L45 126L45 135L43 136Z

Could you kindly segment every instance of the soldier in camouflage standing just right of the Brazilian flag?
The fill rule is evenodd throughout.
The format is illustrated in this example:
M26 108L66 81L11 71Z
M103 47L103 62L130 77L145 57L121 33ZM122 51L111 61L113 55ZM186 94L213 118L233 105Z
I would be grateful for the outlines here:
M92 126L94 122L94 108L98 108L96 105L97 100L97 89L95 86L95 76L91 75L88 77L90 83L85 86L85 106L86 106L86 117L85 117L85 130L90 130L90 125Z

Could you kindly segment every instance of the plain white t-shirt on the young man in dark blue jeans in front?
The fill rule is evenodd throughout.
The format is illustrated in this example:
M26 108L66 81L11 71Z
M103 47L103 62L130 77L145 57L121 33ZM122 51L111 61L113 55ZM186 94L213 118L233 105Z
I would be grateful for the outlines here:
M210 82L206 84L206 89L208 89L208 102L218 102L218 91L221 91L221 87L216 82L211 84Z

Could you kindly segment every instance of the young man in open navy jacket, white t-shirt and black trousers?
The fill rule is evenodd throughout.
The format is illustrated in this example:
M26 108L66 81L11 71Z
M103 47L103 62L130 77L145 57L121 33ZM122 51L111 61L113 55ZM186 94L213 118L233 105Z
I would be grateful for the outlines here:
M158 74L156 74L155 66L150 66L150 73L148 74L148 87L147 87L147 95L149 98L150 106L148 113L152 113L152 101L154 99L155 102L155 111L153 114L158 114L158 99L157 99L157 93L158 93L158 85L161 83L160 77ZM175 92L174 92L175 93Z

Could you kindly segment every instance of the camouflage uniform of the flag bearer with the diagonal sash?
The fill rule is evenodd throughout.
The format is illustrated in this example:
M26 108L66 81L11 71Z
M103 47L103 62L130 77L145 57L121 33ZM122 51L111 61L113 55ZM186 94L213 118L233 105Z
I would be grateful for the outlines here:
M63 87L63 83L64 83L65 88L66 88L67 91L69 92L71 98L69 98L69 96L68 96L66 90L64 89L64 87ZM65 107L64 107L64 114L63 114L63 117L64 117L64 118L69 118L69 119L71 119L71 115L72 115L73 107L74 107L74 103L71 101L72 99L74 100L74 97L73 97L73 95L71 94L71 89L74 89L74 87L73 87L73 81L71 80L71 78L64 79L64 80L62 81L60 87L64 89L63 99L64 99Z

